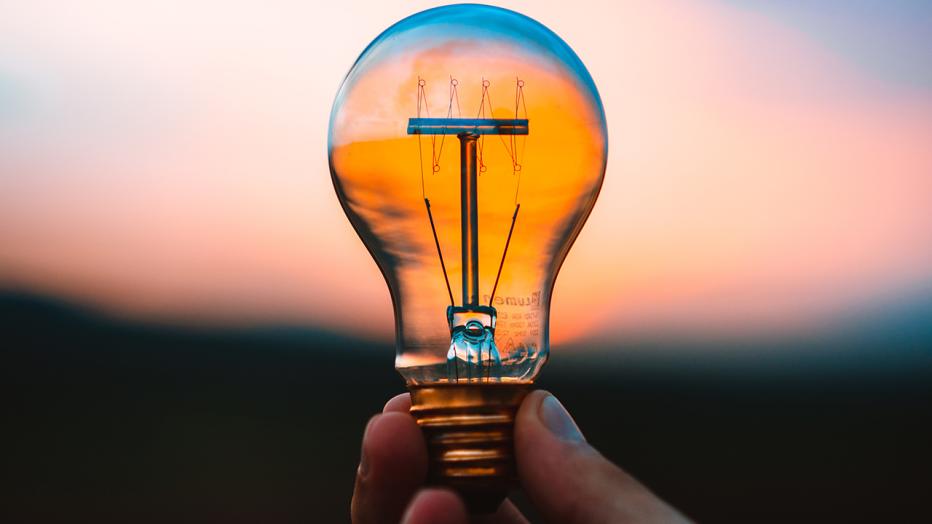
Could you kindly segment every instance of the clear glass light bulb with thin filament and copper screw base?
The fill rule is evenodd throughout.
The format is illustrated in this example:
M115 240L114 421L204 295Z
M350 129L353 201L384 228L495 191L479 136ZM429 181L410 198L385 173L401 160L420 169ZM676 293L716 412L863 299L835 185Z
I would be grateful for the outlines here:
M505 9L396 23L337 94L334 187L391 292L431 479L473 509L497 506L514 475L514 412L547 361L554 281L606 154L585 66Z

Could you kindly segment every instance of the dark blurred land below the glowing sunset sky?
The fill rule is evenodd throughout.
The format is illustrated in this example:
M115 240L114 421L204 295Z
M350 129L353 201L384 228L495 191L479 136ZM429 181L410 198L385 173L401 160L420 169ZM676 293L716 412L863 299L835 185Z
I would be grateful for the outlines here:
M908 306L782 351L556 347L539 384L699 521L916 522L932 301ZM149 325L18 292L0 319L4 522L346 522L362 429L403 391L388 341Z

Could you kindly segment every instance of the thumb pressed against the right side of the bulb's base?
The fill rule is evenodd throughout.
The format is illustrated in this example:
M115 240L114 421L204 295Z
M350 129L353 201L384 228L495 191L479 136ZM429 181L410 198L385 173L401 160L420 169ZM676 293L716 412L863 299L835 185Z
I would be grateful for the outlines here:
M515 420L521 484L551 522L688 522L590 446L546 391L527 396Z

